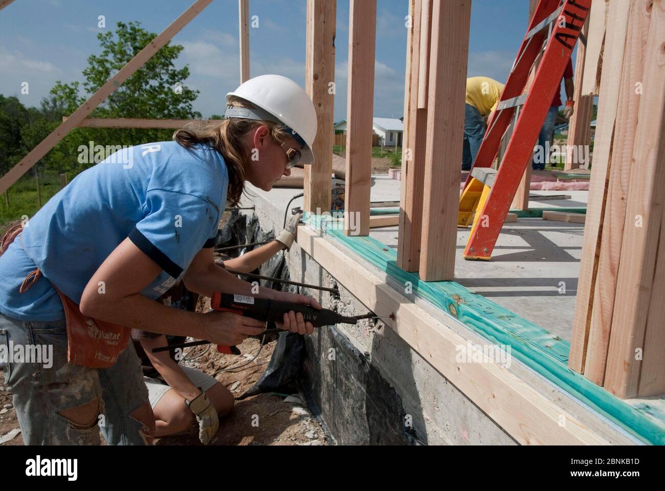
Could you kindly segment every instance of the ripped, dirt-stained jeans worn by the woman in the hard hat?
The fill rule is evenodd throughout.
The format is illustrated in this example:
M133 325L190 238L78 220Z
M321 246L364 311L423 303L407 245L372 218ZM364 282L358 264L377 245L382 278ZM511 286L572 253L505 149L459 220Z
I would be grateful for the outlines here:
M146 426L131 416L148 403L132 343L108 369L81 367L67 363L65 320L31 322L0 314L0 367L26 445L99 444L100 429L110 445L146 444ZM100 410L91 428L76 428L59 414L95 399Z

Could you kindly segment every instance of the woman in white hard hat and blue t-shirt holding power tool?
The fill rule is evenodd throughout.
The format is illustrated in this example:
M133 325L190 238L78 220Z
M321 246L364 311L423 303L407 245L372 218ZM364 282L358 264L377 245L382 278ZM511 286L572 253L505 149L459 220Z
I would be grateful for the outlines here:
M225 116L82 172L3 240L0 344L53 347L50 367L1 361L26 444L96 444L98 424L109 444L150 441L154 415L131 329L219 345L263 331L234 313L154 301L181 279L201 295L252 295L213 261L225 204L237 204L245 182L270 190L297 160L314 160L314 106L285 77L243 83L227 94ZM270 289L257 296L321 307ZM281 327L313 332L293 312ZM197 412L210 405L202 391L188 403Z

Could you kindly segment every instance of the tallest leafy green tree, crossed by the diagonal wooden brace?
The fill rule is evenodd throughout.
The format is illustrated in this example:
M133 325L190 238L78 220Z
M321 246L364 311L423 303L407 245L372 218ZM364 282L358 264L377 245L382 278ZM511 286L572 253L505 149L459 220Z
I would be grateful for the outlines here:
M63 83L57 81L49 98L42 103L42 112L55 118L71 114L108 79L115 75L130 59L156 37L140 27L138 22L118 22L116 30L97 35L102 49L99 55L88 57L88 67L82 75L85 81ZM167 43L146 64L117 88L90 117L94 118L201 118L192 103L199 91L186 86L190 69L177 69L175 62L184 47ZM50 127L51 123L49 123ZM53 128L51 128L52 130ZM50 131L50 130L49 130ZM31 129L37 138L39 132ZM48 134L48 132L46 133ZM51 150L48 168L74 174L95 162L78 162L78 147L92 141L101 145L136 145L145 142L170 140L172 130L135 128L76 128ZM45 135L44 135L45 136ZM27 138L28 139L28 138ZM31 144L33 141L31 140ZM34 145L33 145L34 146Z

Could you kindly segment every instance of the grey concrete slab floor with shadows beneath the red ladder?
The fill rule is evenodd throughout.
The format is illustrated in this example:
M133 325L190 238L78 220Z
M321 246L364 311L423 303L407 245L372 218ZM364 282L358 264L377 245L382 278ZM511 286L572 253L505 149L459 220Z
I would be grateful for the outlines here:
M380 174L372 176L372 201L398 201L400 181ZM267 198L278 208L302 192L275 188ZM568 194L570 200L531 200L530 208L583 208L588 191L532 191L531 194ZM289 208L301 206L302 198ZM541 218L519 218L505 224L491 261L466 261L462 252L469 229L458 229L455 278L458 283L517 315L571 339L575 294L582 251L583 224L549 222ZM374 228L370 236L388 247L397 247L398 228Z

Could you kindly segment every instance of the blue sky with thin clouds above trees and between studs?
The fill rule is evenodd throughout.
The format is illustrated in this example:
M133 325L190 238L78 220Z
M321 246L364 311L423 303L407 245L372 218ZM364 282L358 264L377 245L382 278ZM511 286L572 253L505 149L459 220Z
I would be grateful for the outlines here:
M194 0L15 0L0 11L0 94L38 106L55 81L82 81L87 58L99 53L96 35L118 21L140 21L160 33ZM505 82L527 27L528 0L473 0L468 76ZM201 91L203 117L223 112L224 96L239 84L237 0L214 0L174 38L185 47L185 82ZM305 0L250 0L251 76L305 78ZM374 116L402 116L407 0L378 0ZM98 28L104 15L106 29ZM346 117L348 1L337 1L334 120ZM21 82L29 94L21 94Z

